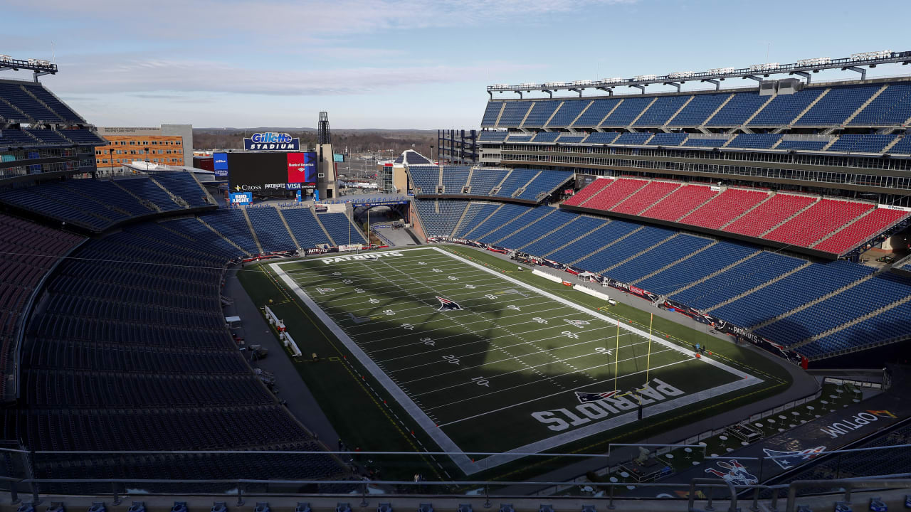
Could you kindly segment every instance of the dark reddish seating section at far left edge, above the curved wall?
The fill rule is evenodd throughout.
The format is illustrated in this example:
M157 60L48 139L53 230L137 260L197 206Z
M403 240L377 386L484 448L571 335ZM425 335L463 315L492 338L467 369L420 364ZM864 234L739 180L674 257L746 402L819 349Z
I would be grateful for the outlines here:
M0 215L0 243L6 252L0 268L0 397L4 400L26 303L47 271L81 241L74 234Z

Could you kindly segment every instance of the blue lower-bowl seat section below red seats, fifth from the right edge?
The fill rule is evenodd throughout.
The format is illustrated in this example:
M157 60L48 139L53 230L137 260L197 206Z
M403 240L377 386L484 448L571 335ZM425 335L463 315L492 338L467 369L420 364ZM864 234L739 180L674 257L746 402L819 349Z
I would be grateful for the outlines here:
M671 265L649 278L635 282L635 284L650 292L661 294L674 292L756 252L758 251L753 247L730 241L719 241L705 251L693 254L690 258Z

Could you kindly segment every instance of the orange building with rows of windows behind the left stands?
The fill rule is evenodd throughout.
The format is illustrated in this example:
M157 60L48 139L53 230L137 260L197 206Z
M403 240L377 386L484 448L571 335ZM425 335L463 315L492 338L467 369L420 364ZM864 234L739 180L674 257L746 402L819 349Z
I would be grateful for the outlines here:
M147 159L156 164L185 165L183 138L179 135L104 135L104 138L110 144L95 148L98 169ZM192 148L189 151L192 158Z

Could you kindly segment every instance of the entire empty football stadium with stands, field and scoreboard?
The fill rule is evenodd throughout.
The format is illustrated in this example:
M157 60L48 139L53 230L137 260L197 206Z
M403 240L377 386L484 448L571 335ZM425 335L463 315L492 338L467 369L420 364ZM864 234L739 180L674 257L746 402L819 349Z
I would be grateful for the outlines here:
M490 86L355 199L325 113L101 172L2 59L4 509L911 507L911 52Z

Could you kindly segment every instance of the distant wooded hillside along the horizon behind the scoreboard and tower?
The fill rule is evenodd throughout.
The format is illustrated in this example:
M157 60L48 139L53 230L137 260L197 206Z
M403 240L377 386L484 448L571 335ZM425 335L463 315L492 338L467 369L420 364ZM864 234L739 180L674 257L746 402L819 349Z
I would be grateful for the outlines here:
M196 149L207 150L241 149L244 133L278 131L301 138L301 145L312 147L316 144L316 128L194 128L193 145ZM414 148L427 157L430 146L436 146L436 130L427 129L333 129L333 146L336 152L348 148L349 153L384 152L384 156L393 157L405 149ZM435 154L435 153L434 153Z

